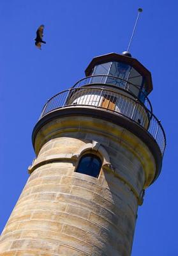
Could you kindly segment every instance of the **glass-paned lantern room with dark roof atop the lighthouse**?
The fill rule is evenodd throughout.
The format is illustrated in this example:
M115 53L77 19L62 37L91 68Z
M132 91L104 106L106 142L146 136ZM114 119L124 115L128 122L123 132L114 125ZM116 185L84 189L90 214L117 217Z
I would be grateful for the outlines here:
M110 53L93 58L85 70L90 84L112 84L128 91L140 101L152 91L151 73L129 52Z

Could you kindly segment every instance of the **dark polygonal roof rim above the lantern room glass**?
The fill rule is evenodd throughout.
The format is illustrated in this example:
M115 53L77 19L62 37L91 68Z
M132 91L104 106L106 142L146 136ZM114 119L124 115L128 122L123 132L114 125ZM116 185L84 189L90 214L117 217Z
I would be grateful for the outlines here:
M115 52L94 57L91 63L89 63L88 67L85 69L85 76L90 76L94 66L109 61L121 61L122 63L131 65L131 67L135 68L135 70L137 70L137 72L139 72L140 75L145 77L147 93L150 93L152 91L151 72L149 72L149 70L147 70L147 68L145 68L144 65L142 65L142 63L140 63L137 59L128 57L126 55L117 54Z

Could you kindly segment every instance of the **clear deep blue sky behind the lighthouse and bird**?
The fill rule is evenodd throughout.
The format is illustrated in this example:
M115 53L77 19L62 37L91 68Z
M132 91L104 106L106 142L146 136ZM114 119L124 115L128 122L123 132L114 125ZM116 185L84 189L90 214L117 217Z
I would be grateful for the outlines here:
M147 189L132 256L177 255L177 8L176 0L1 0L0 230L8 220L34 158L31 133L50 97L84 77L94 56L130 51L152 73L149 99L167 134L159 179ZM45 24L47 44L34 46Z

